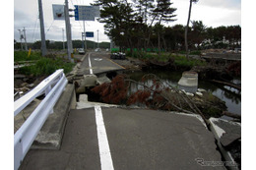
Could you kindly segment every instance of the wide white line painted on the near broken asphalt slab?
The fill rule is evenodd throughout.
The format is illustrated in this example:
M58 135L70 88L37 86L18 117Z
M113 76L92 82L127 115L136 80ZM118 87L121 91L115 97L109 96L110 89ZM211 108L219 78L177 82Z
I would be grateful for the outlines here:
M100 106L95 106L96 111L96 132L101 170L113 170L113 162L107 141L102 111Z

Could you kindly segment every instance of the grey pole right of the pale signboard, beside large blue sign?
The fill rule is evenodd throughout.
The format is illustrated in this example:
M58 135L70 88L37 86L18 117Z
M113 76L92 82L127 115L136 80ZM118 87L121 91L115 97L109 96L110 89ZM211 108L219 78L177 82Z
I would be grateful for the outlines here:
M68 47L68 59L73 62L71 59L71 55L73 55L73 47L72 47L72 38L71 38L71 28L70 28L70 19L69 19L69 5L68 0L65 0L65 24L66 24L66 37L67 37L67 47Z

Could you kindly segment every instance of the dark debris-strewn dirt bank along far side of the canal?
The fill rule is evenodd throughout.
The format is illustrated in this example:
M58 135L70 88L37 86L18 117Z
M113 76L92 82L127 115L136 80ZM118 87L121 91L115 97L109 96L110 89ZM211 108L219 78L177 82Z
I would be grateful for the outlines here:
M230 81L234 77L241 76L241 61L226 62L223 59L209 59L206 61L206 65L184 67L175 65L173 59L160 62L157 60L139 60L127 57L126 60L113 61L126 68L126 70L131 71L160 69L167 71L197 72L200 80Z

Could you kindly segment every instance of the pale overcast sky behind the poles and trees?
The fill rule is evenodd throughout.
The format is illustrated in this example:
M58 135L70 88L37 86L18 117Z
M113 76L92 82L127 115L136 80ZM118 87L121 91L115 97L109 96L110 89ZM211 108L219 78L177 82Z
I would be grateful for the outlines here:
M69 7L73 5L90 5L94 0L69 0ZM168 24L186 25L189 0L172 0L172 7L177 8L175 14L177 21ZM62 28L65 28L64 21L53 20L52 4L64 4L64 0L42 0L45 38L50 40L62 41ZM72 13L70 13L72 14ZM241 0L199 0L193 4L191 21L203 21L207 27L219 26L241 26ZM72 39L81 39L83 22L70 20L72 25ZM18 29L26 28L27 41L40 39L39 20L38 20L38 1L37 0L14 0L14 38L20 42ZM109 41L103 34L103 24L98 22L86 22L86 31L99 30L99 41ZM66 39L66 35L65 35ZM88 38L96 40L95 38Z

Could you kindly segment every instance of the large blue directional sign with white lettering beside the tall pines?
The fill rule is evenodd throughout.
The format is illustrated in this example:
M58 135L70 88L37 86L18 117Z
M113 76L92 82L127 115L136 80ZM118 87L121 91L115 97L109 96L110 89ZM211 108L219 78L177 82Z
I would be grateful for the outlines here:
M99 8L96 6L75 5L75 21L95 21L98 14Z

